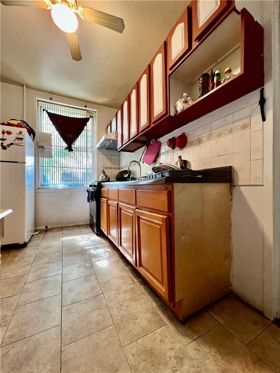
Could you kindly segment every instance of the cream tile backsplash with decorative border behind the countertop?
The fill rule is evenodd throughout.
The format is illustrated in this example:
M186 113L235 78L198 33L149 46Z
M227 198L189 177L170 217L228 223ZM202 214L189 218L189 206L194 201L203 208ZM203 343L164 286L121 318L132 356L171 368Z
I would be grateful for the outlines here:
M162 142L161 152L157 157L160 162L173 163L178 159L186 159L191 163L192 169L233 166L234 185L260 185L262 184L262 118L258 103L254 103L242 110L223 116L209 123L206 118L182 128L177 136L185 132L188 137L187 146L180 151L167 147L168 136L159 139ZM217 117L216 117L217 118ZM173 135L172 135L173 136ZM170 136L170 137L172 137ZM127 169L132 159L139 160L143 148L134 153L122 153L121 170ZM173 161L169 161L169 154L173 153ZM111 162L113 161L112 155ZM150 173L152 167L142 164L142 174ZM110 170L113 176L113 170ZM135 176L139 176L135 168Z

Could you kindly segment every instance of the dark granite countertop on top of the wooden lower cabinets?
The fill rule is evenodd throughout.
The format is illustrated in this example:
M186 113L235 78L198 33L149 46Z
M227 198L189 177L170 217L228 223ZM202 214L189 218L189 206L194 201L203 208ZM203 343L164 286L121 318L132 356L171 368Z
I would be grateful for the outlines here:
M166 184L166 183L231 183L232 167L217 167L214 169L199 170L199 175L180 176L165 176L155 179L142 179L134 181L112 181L102 184L102 186L117 186L117 185L151 185L151 184ZM196 170L197 174L197 170Z

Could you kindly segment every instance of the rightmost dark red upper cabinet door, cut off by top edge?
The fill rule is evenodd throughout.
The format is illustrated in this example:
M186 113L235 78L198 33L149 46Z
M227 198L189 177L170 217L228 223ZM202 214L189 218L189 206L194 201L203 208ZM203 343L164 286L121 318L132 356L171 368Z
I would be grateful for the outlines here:
M233 0L192 0L192 40L199 41L227 10L234 6Z

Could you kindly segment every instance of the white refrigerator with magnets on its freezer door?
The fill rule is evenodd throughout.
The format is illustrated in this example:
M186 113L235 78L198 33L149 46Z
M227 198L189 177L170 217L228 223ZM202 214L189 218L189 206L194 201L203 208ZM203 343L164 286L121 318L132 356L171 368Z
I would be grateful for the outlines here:
M34 166L27 130L0 125L0 208L13 210L4 220L1 245L27 243L34 233Z

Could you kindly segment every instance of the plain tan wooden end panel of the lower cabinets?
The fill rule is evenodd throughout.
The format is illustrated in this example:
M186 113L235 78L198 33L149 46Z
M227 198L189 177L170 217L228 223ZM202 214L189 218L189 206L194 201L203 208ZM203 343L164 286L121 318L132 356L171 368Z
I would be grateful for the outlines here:
M175 301L186 318L230 291L230 185L175 184L174 199Z

